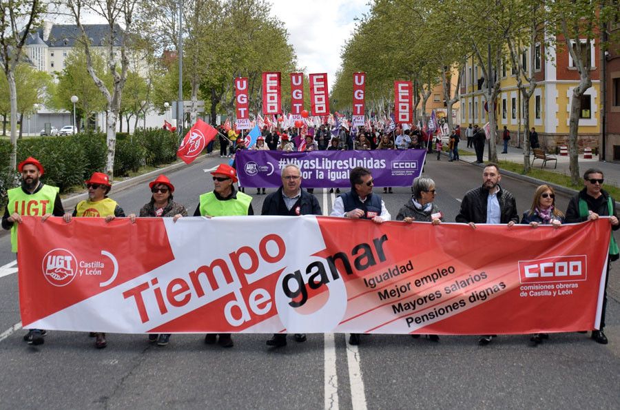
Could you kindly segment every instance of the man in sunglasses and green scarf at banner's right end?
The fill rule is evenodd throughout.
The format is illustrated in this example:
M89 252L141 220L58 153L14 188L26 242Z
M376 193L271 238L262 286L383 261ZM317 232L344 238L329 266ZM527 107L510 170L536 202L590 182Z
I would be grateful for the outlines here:
M603 189L603 172L596 168L590 168L583 173L583 185L586 185L577 195L570 198L568 209L566 209L566 223L579 223L585 221L595 221L599 216L609 216L609 223L612 230L620 228L618 216L616 214L616 203L609 192ZM619 257L618 245L612 234L609 243L609 262L617 260ZM601 345L607 345L607 336L603 333L605 327L605 312L607 310L607 283L609 280L609 263L607 264L607 274L605 276L605 291L603 293L603 309L601 311L600 329L592 330L592 339Z

